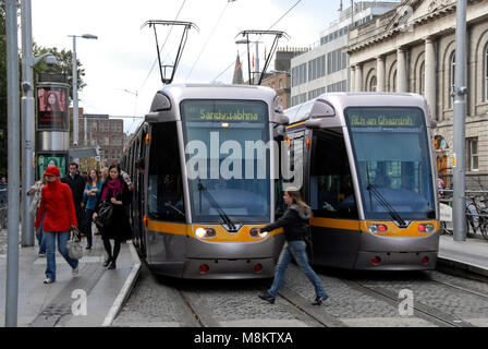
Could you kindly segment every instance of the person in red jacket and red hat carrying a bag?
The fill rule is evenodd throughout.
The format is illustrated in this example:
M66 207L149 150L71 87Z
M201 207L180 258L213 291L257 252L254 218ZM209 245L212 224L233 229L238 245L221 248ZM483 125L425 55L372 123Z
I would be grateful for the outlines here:
M56 281L56 240L58 251L72 267L73 277L78 274L78 260L69 255L68 240L72 231L76 230L76 214L70 186L60 182L60 171L56 166L49 166L46 171L46 185L42 188L40 205L36 216L36 232L44 217L44 239L46 241L47 267L44 284ZM46 216L45 216L46 214Z

